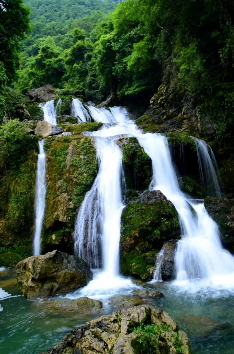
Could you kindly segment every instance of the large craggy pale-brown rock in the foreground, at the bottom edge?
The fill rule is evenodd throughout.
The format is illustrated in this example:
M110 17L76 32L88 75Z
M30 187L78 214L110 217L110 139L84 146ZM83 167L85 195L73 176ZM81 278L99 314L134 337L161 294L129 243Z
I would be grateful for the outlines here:
M48 349L46 354L139 353L137 339L141 335L133 330L141 323L167 326L155 337L158 354L176 354L178 349L183 354L191 353L188 336L183 331L177 331L176 323L168 313L152 306L141 305L87 322L85 326L78 327L65 336L57 346ZM174 344L175 338L179 339L176 341L177 347ZM145 353L147 349L149 347L145 348Z

